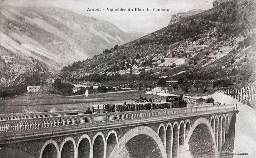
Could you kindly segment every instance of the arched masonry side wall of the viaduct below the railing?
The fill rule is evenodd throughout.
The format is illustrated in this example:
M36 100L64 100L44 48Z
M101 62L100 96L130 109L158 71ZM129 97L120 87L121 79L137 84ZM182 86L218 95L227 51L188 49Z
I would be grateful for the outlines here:
M229 112L164 119L154 123L50 135L40 139L2 144L0 147L14 148L35 158L108 158L117 155L123 146L133 158L146 157L146 155L152 158L183 158L185 152L183 146L186 146L184 142L189 139L189 152L194 158L210 158L215 157L217 144L222 144L220 148L224 150L232 149L234 127L230 124L235 123L235 116L234 112ZM192 129L193 124L202 118L207 123L199 123ZM191 129L192 134L189 133ZM231 145L226 143L227 139Z

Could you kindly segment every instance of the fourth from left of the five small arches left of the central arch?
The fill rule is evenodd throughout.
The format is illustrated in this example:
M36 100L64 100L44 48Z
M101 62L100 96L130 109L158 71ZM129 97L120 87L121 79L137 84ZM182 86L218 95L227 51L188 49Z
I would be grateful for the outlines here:
M102 132L98 132L94 135L92 140L92 157L106 157L104 149L105 149L105 137ZM95 145L95 146L94 146Z

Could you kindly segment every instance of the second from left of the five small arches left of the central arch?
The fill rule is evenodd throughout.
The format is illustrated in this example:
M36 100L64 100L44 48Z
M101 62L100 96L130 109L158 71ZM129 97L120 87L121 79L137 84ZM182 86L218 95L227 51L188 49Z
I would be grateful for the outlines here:
M73 152L72 152L72 149L74 150ZM62 152L62 150L63 150L63 152ZM70 151L70 152L68 153L67 151ZM59 154L60 157L61 158L72 158L72 157L75 158L77 155L76 152L77 152L77 150L76 150L75 140L72 137L65 138L60 146L60 154Z

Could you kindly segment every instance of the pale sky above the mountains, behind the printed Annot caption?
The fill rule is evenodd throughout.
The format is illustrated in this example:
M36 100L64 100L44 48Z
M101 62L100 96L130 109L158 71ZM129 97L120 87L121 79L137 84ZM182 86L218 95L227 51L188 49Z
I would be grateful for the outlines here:
M68 9L93 18L112 22L125 32L151 33L168 26L171 15L192 9L208 10L213 8L212 0L0 0L0 5L14 6L52 6ZM100 11L87 11L99 8ZM126 11L108 11L107 8L126 9ZM133 11L128 11L132 8ZM135 11L135 8L144 11ZM146 11L146 8L151 11ZM167 11L153 11L168 9ZM104 10L103 10L104 9Z

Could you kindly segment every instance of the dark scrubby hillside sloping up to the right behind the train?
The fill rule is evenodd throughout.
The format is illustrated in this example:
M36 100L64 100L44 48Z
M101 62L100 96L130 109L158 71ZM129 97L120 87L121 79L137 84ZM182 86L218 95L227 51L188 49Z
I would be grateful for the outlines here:
M61 75L73 80L96 73L129 74L131 65L133 74L142 70L160 76L187 72L193 74L194 79L198 74L206 78L206 74L211 75L210 78L239 75L247 67L255 68L255 8L253 0L222 3L87 61L65 67Z

